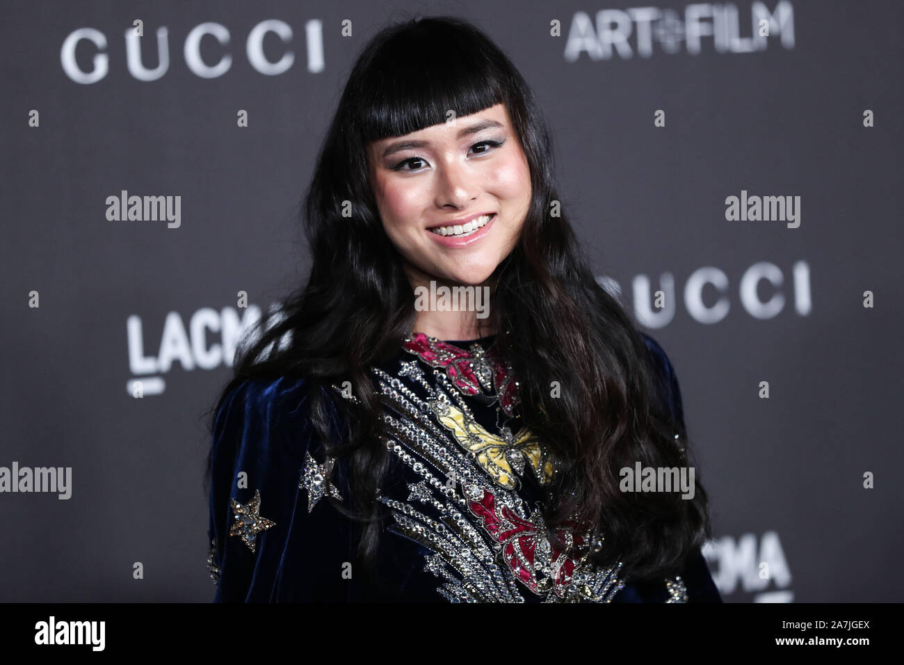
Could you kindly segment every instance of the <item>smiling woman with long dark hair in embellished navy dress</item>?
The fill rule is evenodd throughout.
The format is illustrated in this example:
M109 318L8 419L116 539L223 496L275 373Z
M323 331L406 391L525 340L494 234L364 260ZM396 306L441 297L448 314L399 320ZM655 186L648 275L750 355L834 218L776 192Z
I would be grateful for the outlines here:
M699 480L625 490L637 463L687 470L681 396L551 157L472 25L363 49L306 195L309 279L215 407L217 601L720 602Z

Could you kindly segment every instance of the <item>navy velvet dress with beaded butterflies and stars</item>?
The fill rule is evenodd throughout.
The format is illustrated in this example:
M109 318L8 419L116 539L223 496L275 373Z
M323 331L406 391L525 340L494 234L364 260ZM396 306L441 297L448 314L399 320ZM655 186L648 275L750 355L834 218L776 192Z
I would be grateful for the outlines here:
M537 508L558 470L521 426L511 369L495 336L442 342L416 333L372 367L384 404L391 470L378 560L355 555L359 525L334 503L350 496L342 460L326 458L307 415L304 379L246 380L216 415L208 568L216 602L720 603L700 552L682 575L636 581L587 557L602 537L570 522L545 537ZM645 335L661 395L683 428L672 365ZM323 388L333 436L344 428Z

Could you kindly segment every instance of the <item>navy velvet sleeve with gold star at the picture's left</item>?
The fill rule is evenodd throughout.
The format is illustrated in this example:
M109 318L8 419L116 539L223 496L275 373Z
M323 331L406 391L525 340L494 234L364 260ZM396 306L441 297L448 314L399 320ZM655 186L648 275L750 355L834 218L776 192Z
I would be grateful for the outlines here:
M304 601L313 591L285 569L292 537L308 540L314 528L299 489L313 429L305 407L303 379L246 379L216 414L209 533L215 602L287 594Z

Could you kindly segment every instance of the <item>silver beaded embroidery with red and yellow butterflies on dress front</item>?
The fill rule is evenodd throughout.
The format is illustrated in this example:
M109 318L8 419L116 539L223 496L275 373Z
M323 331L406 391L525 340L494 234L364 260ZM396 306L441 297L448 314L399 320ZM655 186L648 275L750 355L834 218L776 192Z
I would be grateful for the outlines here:
M467 352L420 333L405 348L422 362L400 362L397 375L371 371L384 404L381 440L419 480L404 500L378 499L390 508L388 530L428 550L424 570L438 578L437 593L452 603L523 603L525 594L543 603L610 602L625 586L622 564L589 561L604 538L569 520L555 530L564 547L557 546L541 507L519 493L526 472L548 485L558 461L526 428L512 432L505 423L490 432L469 407L485 394L513 416L511 368L478 344ZM686 600L676 579L668 602Z

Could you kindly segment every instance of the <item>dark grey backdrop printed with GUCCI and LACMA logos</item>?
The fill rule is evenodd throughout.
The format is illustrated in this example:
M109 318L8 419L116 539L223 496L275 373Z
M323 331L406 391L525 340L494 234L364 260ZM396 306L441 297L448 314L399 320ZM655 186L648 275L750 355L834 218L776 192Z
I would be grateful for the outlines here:
M904 599L904 5L341 5L3 5L0 601L212 598L205 412L305 277L354 58L414 14L540 101L598 280L673 361L725 600Z

